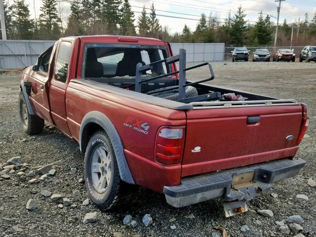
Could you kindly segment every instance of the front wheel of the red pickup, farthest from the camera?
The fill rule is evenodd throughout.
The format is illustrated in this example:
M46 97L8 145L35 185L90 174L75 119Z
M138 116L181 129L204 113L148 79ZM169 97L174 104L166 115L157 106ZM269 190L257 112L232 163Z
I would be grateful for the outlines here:
M38 117L37 115L30 115L23 91L21 91L19 95L19 115L23 130L27 134L32 135L43 131L44 119Z

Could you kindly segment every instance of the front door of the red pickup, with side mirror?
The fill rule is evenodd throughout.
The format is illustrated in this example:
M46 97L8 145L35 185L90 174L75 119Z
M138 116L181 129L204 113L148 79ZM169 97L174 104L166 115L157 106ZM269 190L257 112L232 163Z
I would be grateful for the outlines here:
M49 61L53 46L40 54L37 64L30 73L29 81L32 83L31 102L36 113L49 123L52 123L49 114L48 97L46 93L46 82L49 80Z

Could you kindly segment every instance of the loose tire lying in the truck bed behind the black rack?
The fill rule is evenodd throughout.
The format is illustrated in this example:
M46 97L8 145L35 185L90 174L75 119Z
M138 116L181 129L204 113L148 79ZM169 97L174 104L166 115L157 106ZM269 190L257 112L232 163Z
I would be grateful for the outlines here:
M167 91L161 91L161 90L168 89L170 87L173 87L173 86L167 86L167 87L159 88L156 90L152 90L152 91L147 92L146 94L150 94L152 96L164 98L167 100L178 100L179 99L179 89L178 88L172 89L172 90L167 90ZM197 93L197 89L195 87L190 86L190 85L186 87L186 98L194 97L197 95L198 95L198 93Z

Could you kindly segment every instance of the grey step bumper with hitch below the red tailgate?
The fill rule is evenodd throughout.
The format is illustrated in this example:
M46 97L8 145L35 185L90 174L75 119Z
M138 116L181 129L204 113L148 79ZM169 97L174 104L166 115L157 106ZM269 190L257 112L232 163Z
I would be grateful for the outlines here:
M198 202L206 201L215 197L223 197L226 200L248 200L259 195L259 191L271 188L271 184L280 180L297 175L304 167L306 161L299 158L296 160L281 159L266 163L245 166L219 172L201 174L186 177L181 180L179 186L164 186L167 203L174 207L182 207ZM253 172L251 186L246 188L247 194L242 193L242 188L232 188L233 177L237 174ZM248 191L249 190L249 191Z

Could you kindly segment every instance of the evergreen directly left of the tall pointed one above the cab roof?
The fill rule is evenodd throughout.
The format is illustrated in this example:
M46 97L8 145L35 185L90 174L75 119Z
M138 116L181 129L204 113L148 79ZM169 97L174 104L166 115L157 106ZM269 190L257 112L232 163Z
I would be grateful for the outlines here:
M118 33L118 26L120 23L120 10L122 0L103 0L102 4L102 20L106 22L111 35Z

